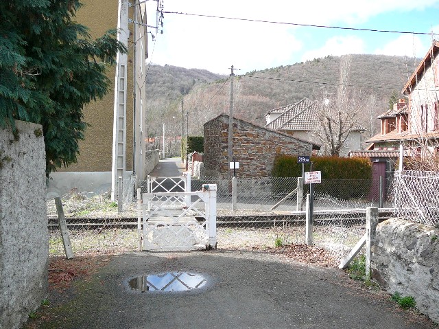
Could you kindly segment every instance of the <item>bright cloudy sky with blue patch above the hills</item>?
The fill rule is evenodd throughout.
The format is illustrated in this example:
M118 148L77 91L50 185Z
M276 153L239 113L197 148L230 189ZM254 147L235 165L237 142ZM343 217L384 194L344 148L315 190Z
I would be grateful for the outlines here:
M233 65L253 70L344 54L423 58L439 40L439 0L163 0L163 28L150 28L152 64L230 74ZM185 14L174 14L174 12ZM147 2L147 23L156 26L156 1ZM187 15L191 14L191 15ZM427 35L364 32L213 17L326 25ZM161 34L163 30L163 34ZM436 33L438 35L431 35ZM152 41L152 35L155 36ZM147 60L147 61L148 61Z

